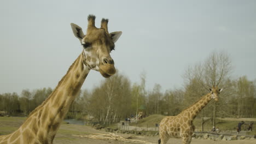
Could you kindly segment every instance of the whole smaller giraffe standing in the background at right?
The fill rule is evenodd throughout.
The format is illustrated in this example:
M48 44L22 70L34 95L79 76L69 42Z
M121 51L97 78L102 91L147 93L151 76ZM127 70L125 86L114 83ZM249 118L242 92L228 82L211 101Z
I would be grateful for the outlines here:
M170 137L182 138L184 144L191 142L191 136L195 130L193 120L196 115L205 107L212 99L218 101L218 94L222 89L218 87L210 88L210 93L204 95L194 105L183 110L177 116L167 116L162 119L159 125L160 140L158 143L166 144Z

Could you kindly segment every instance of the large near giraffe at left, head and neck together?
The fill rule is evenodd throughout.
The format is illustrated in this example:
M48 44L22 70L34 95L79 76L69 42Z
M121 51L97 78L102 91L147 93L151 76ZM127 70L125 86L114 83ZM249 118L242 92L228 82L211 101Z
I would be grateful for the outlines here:
M83 45L83 52L68 69L53 93L33 110L21 127L12 134L0 136L0 143L53 143L60 124L69 106L78 95L91 69L100 71L104 77L115 74L114 61L110 51L122 32L108 33L108 19L102 19L101 28L95 27L95 16L88 16L88 29L71 23L75 37Z

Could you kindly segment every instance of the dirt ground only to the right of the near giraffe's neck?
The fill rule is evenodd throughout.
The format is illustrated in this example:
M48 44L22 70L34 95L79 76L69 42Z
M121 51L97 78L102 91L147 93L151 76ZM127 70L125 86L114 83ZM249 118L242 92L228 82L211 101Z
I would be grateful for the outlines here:
M81 134L108 134L105 131L102 130L95 130L94 128L91 128L89 126L81 126L81 125L73 125L73 124L62 124L60 128L60 133L57 133L54 143L61 144L61 143L74 143L74 144L82 144L82 143L92 143L92 144L97 144L97 143L102 143L102 144L107 144L107 143L131 143L131 142L122 142L122 141L114 141L114 140L93 140L89 139L86 137L77 137L77 136L72 136L70 133L65 133L65 130L75 130L79 131ZM77 132L75 132L77 133ZM129 137L131 135L129 134L116 134L120 135L123 137ZM148 141L152 143L157 143L159 136L135 136L136 140L143 140L143 141ZM181 139L170 139L167 143L177 143L177 144L182 144ZM212 140L198 140L194 139L191 142L192 144L204 144L204 143L209 143L209 144L242 144L242 143L256 143L256 140L235 140L235 141L212 141Z

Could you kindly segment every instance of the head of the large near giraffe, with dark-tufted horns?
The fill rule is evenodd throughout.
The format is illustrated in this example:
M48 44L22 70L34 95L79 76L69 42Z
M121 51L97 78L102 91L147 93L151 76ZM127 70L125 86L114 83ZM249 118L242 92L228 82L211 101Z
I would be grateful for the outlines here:
M114 50L115 42L122 32L108 33L108 19L101 20L101 28L95 27L95 16L88 16L88 27L84 35L82 28L71 23L75 37L83 46L83 63L89 68L100 71L103 77L115 74L114 60L110 52Z

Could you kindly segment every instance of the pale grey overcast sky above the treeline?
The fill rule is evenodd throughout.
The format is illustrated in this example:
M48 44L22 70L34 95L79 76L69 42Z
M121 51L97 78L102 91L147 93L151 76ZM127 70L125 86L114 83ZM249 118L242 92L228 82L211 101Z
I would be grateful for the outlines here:
M146 87L183 85L189 65L211 52L231 58L237 78L256 79L256 1L0 1L0 93L55 88L82 52L70 23L86 30L108 18L109 32L123 31L111 53L131 82L146 72ZM104 80L90 71L82 88Z

